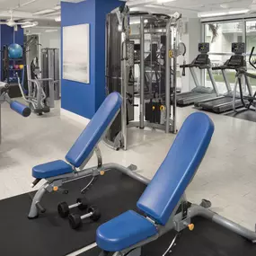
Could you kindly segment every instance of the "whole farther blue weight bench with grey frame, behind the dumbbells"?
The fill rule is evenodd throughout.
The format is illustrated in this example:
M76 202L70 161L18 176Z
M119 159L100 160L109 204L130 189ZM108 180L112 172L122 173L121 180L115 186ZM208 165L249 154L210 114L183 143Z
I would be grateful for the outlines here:
M99 110L97 110L80 137L75 141L74 146L66 154L66 161L57 160L50 163L43 163L32 169L32 176L35 178L35 181L32 182L31 187L35 187L43 179L46 180L46 183L40 187L32 200L31 210L28 215L29 218L35 218L39 216L40 211L45 211L40 205L40 200L46 192L65 192L60 188L63 183L74 181L78 178L92 176L92 181L84 188L86 190L93 183L95 177L114 169L127 174L137 181L148 184L149 180L133 172L136 169L134 165L127 168L117 163L102 164L102 154L98 144L119 114L121 105L122 97L119 93L111 93L102 103ZM86 163L93 156L93 153L97 155L98 165L84 169Z

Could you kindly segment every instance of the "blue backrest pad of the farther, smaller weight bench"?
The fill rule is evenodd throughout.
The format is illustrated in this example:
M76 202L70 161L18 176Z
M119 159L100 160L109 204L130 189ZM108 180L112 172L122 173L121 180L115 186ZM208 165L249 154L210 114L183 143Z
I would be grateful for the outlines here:
M92 153L106 129L110 126L122 104L122 97L119 93L110 93L102 103L102 106L93 116L88 126L80 137L75 141L74 146L66 154L66 161L80 167L86 158Z

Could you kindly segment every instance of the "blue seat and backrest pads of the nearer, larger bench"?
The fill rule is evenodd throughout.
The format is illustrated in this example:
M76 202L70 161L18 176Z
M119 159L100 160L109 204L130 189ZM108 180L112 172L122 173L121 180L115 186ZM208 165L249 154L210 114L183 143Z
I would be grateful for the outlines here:
M166 225L172 216L207 152L213 133L214 124L204 113L191 114L185 120L165 160L137 202L137 207L155 225ZM154 228L149 228L152 222L127 212L101 225L96 242L103 251L122 251L154 235Z

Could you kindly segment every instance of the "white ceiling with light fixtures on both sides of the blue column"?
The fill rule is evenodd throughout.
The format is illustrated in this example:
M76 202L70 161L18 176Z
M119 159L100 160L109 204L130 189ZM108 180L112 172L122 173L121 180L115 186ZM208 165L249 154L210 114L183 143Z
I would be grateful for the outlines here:
M81 0L64 1L81 2ZM159 3L160 1L164 3ZM128 5L134 11L152 13L174 13L178 11L187 17L197 17L199 12L223 11L230 8L250 9L252 2L252 0L127 0ZM22 6L22 4L25 5ZM0 0L0 19L8 19L10 17L8 11L14 9L13 17L15 19L47 21L50 26L59 26L59 22L55 22L54 19L60 15L60 11L44 15L33 14L46 9L54 9L59 4L60 0Z

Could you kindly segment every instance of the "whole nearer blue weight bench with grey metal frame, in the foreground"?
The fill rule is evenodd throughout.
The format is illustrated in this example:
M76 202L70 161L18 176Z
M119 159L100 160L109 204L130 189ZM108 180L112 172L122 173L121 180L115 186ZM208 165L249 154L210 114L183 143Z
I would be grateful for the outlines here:
M186 200L185 190L207 153L213 133L214 124L206 114L198 112L186 119L165 160L137 201L141 214L130 210L98 228L96 243L102 249L101 255L115 252L114 256L140 256L143 245L172 229L178 234L188 227L193 230L193 216L204 216L256 242L254 232L210 211L210 206L191 205ZM165 254L171 251L174 240Z

